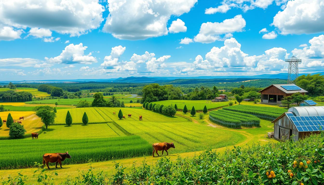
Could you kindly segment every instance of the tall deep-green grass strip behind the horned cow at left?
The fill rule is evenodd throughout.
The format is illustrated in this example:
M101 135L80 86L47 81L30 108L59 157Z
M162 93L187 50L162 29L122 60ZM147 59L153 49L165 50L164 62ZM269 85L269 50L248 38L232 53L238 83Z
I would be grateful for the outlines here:
M42 162L45 153L69 151L63 165L130 158L151 154L152 145L140 136L97 139L23 139L0 142L0 169L27 168ZM55 163L53 163L55 164Z

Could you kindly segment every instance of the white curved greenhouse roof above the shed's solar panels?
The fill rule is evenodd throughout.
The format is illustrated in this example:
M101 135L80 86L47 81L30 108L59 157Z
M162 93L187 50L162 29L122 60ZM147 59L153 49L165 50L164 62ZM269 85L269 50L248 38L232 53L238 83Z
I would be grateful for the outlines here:
M291 107L288 112L294 112L296 116L324 116L324 106Z

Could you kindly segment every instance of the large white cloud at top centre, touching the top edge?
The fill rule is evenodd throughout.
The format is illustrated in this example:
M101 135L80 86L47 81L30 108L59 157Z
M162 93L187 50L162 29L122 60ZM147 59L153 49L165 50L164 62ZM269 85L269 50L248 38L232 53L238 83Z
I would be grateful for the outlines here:
M115 38L141 40L168 34L167 22L171 16L190 11L197 0L108 0L109 15L104 32Z

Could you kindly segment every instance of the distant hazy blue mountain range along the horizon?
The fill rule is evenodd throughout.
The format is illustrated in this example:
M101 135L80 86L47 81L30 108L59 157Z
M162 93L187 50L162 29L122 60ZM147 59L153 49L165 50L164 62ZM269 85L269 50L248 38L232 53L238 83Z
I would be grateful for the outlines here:
M323 72L324 73L324 72ZM322 73L313 73L313 74L322 74ZM312 74L312 75L313 75ZM153 82L168 82L176 79L287 79L287 73L279 74L263 74L263 75L253 75L253 76L156 76L156 77L147 77L147 76L130 76L130 77L119 77L119 78L108 78L108 79L75 79L75 80L31 80L31 81L11 81L13 83L81 83L81 82L114 82L114 83L153 83ZM307 73L299 74L308 75ZM0 81L0 83L9 83L10 81Z

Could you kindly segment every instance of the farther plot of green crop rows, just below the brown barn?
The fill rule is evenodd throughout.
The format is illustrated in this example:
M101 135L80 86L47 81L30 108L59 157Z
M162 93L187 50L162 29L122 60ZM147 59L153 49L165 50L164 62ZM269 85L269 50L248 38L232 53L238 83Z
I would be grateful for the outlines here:
M231 110L236 112L248 113L257 117L274 120L282 115L286 109L272 108L272 107L257 107L250 105L237 105L224 107L225 110Z

